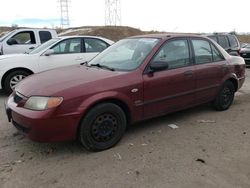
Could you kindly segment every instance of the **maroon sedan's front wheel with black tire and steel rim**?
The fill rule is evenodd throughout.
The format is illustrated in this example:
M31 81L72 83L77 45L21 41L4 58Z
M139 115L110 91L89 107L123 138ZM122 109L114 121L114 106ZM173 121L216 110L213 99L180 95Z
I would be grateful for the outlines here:
M89 151L102 151L116 145L126 129L124 111L112 103L93 107L83 118L79 140Z

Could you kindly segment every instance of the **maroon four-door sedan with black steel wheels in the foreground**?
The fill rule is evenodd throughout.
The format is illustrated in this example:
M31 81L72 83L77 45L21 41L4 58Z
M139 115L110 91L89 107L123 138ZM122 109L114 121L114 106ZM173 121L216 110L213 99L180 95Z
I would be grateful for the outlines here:
M98 151L114 146L137 121L207 102L226 110L244 79L244 60L206 37L136 36L89 63L28 77L8 98L6 112L32 140L78 138Z

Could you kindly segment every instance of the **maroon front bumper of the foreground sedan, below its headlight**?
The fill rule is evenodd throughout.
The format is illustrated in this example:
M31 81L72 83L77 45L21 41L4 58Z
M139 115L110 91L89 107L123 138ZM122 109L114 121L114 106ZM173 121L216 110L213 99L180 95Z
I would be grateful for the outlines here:
M32 111L18 107L11 95L5 105L9 121L33 141L59 142L74 140L81 115L57 114L55 109Z

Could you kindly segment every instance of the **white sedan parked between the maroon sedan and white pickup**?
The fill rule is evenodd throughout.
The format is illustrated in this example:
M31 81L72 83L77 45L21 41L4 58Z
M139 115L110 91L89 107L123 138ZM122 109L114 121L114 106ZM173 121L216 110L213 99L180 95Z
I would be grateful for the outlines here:
M67 36L51 39L29 54L0 56L0 89L11 93L30 74L89 61L111 44L102 37Z

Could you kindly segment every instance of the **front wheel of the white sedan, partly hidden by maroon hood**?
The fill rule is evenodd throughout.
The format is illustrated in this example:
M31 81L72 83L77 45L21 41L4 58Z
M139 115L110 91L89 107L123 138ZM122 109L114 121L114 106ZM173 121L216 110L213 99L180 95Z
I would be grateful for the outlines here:
M17 84L18 82L20 82L22 79L24 79L29 75L30 75L29 72L24 70L16 70L10 72L4 80L3 89L5 90L6 93L10 94L12 92L12 87L15 86L13 82L15 81L15 78L17 78L16 79L16 84Z

